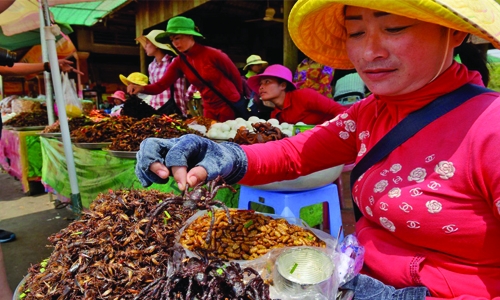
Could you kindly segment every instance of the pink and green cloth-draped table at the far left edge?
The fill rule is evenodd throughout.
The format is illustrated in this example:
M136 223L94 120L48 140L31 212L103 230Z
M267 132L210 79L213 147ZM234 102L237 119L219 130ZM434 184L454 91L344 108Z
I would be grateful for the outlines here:
M31 182L39 182L42 175L40 131L2 129L0 165L11 176L19 179L23 192L30 194Z

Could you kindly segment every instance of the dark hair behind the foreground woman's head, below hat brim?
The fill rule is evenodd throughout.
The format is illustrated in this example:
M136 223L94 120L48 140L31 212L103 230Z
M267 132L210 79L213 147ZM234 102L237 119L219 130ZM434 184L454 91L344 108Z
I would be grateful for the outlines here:
M453 56L458 55L460 61L469 69L478 71L483 79L484 86L488 86L490 82L490 70L488 69L488 60L486 57L486 52L481 51L481 49L468 42L469 36L464 40L464 42L455 48L453 51Z

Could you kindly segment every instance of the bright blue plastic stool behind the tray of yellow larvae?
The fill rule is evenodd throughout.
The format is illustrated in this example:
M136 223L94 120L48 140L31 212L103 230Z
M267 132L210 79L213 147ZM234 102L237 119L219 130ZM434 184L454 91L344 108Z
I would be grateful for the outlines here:
M292 218L299 218L300 209L303 207L323 203L324 227L336 237L342 226L339 194L335 184L327 184L317 189L301 192L273 192L242 185L238 208L251 209L252 202L270 206L275 214ZM340 239L342 240L343 237L344 233L341 232Z

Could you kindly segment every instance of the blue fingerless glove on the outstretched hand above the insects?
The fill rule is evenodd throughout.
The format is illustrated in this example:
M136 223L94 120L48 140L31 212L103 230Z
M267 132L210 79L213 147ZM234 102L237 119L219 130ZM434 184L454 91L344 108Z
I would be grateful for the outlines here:
M144 187L168 181L149 170L154 162L169 169L184 166L189 170L200 166L208 173L207 181L221 175L228 184L240 181L248 165L246 154L238 144L216 143L195 134L174 139L148 138L141 142L135 174Z

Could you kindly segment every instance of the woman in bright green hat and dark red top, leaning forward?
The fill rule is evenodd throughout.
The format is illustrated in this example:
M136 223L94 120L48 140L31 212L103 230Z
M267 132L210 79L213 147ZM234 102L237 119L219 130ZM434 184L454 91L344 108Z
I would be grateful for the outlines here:
M203 38L203 35L197 31L192 19L174 17L168 21L166 32L156 36L156 41L159 43L171 42L179 51L179 55L185 55L186 60L194 67L201 78L209 82L212 88L221 93L226 100L231 102L240 100L243 93L243 84L238 68L224 52L199 44L196 42L195 37ZM129 85L127 91L129 94L159 94L170 88L183 75L200 91L203 98L204 117L219 122L235 119L231 107L217 96L216 92L203 83L181 57L172 60L163 77L157 82L146 86Z

